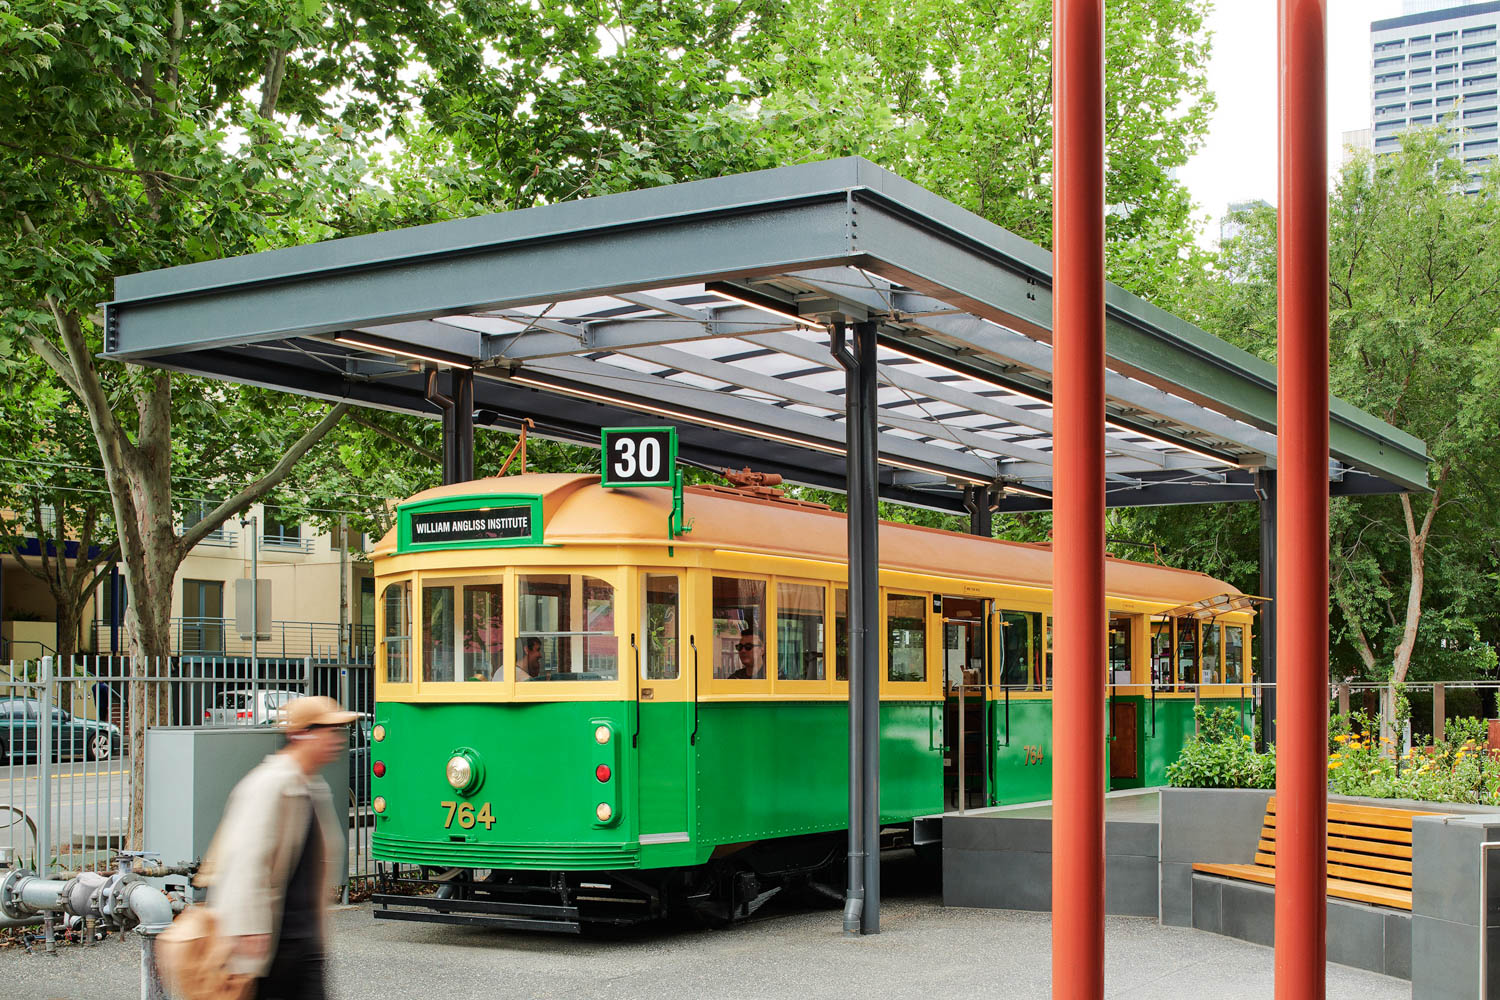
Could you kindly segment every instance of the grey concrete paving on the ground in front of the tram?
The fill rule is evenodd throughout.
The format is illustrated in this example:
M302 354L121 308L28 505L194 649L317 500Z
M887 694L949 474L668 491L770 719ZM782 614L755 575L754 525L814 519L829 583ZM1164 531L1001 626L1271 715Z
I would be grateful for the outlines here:
M848 939L836 910L780 915L723 931L561 937L435 924L375 922L368 906L333 919L336 1000L582 1000L873 996L1047 997L1046 913L944 909L936 898L886 901L882 934ZM1114 999L1272 996L1272 952L1215 934L1110 918L1107 990ZM0 996L16 1000L136 1000L135 940L57 957L0 951ZM1329 966L1330 1000L1407 1000L1410 984Z

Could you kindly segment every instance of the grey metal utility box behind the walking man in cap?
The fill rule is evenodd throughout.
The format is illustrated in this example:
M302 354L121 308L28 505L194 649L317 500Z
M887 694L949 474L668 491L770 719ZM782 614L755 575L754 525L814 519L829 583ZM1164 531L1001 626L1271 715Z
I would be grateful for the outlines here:
M230 790L250 769L285 745L270 726L153 729L146 733L146 849L168 865L202 858L219 828ZM333 814L348 817L350 756L322 769L333 793ZM344 853L350 832L339 825ZM348 865L344 868L346 879Z

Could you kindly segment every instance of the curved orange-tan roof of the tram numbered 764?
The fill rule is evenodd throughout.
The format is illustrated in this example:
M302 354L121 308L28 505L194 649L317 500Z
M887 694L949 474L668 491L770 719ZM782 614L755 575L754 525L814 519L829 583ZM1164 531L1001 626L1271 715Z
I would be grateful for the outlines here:
M452 483L408 498L408 504L477 496L484 493L542 498L543 537L549 546L590 547L650 544L682 549L717 549L768 556L843 562L849 535L843 514L810 505L789 504L734 490L688 487L684 514L692 531L680 538L662 532L672 498L658 489L604 489L597 475L531 474L488 477ZM837 519L837 526L828 520ZM477 550L477 558L494 550ZM510 550L516 553L518 550ZM396 553L396 529L376 543L376 558ZM476 550L423 553L444 559L471 559ZM586 558L586 556L585 556ZM1050 591L1053 580L1052 546L1024 541L976 538L954 531L880 522L880 565L886 570L986 580L1010 586ZM1230 583L1196 570L1106 558L1106 591L1116 598L1156 604L1208 604L1218 598L1233 603L1242 597ZM1252 606L1224 607L1254 610Z

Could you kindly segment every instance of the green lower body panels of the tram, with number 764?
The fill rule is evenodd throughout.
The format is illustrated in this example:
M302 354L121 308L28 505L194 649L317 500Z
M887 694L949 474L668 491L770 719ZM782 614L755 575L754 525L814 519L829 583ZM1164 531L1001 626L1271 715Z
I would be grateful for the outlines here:
M1191 700L1156 699L1155 708L1149 697L1134 700L1137 777L1116 778L1112 789L1164 784L1167 765L1192 736ZM376 819L375 856L468 868L668 868L700 865L722 846L846 828L848 703L645 702L639 732L634 709L633 702L381 703L386 741L372 750L392 763L374 778L374 795L390 807ZM880 703L882 823L944 811L940 714L940 702ZM994 804L1052 798L1052 700L993 700L988 717ZM606 747L594 739L600 724L612 730ZM444 774L458 750L483 766L466 796ZM610 769L608 783L596 777L600 763ZM488 804L494 822L446 825L444 802L476 811ZM609 823L596 817L600 802L614 810Z

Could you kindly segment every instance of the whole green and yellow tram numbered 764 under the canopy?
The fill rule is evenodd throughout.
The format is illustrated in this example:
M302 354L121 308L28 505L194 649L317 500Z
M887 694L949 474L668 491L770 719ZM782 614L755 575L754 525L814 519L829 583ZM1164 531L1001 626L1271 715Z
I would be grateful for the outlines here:
M376 915L576 930L840 892L844 517L764 489L684 505L672 538L670 492L596 475L400 504L375 550L374 855L444 885ZM888 838L960 795L1048 798L1050 549L879 544ZM1161 784L1196 702L1245 706L1251 612L1197 573L1110 559L1107 582L1110 783Z

